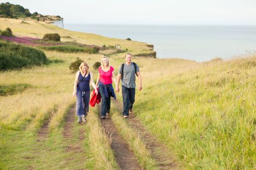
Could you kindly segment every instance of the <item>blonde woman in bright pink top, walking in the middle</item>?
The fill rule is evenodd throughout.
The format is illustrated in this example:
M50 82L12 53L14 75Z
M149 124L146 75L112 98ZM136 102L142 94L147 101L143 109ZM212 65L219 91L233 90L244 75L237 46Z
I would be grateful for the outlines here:
M96 86L99 86L99 92L101 96L101 118L105 119L106 114L110 113L110 97L112 95L111 92L113 91L114 93L112 80L116 85L114 68L110 66L108 57L102 57L101 66L99 67L98 71L99 76L97 78Z

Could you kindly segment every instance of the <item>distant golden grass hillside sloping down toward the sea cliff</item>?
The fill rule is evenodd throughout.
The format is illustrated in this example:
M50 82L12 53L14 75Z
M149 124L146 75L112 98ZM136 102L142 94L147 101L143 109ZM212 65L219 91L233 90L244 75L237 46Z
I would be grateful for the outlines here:
M26 23L24 23L20 19L0 18L0 30L5 30L6 28L10 28L14 36L18 37L42 38L47 33L58 33L62 42L69 41L97 46L115 46L118 44L122 50L127 49L127 52L134 54L154 53L152 46L144 42L107 38L96 34L64 30L42 21L26 20Z

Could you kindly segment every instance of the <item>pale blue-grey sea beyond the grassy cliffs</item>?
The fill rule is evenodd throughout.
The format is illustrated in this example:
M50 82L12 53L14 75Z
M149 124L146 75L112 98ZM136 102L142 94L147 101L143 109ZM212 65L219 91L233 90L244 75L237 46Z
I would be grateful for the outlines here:
M67 30L153 44L157 58L203 62L256 53L256 26L86 25L63 21L53 24Z

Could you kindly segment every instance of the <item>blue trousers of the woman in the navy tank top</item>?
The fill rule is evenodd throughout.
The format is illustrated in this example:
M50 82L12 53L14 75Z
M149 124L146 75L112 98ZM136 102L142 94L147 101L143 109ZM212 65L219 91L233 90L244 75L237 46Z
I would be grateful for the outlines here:
M89 112L90 91L76 90L76 114L85 115Z

